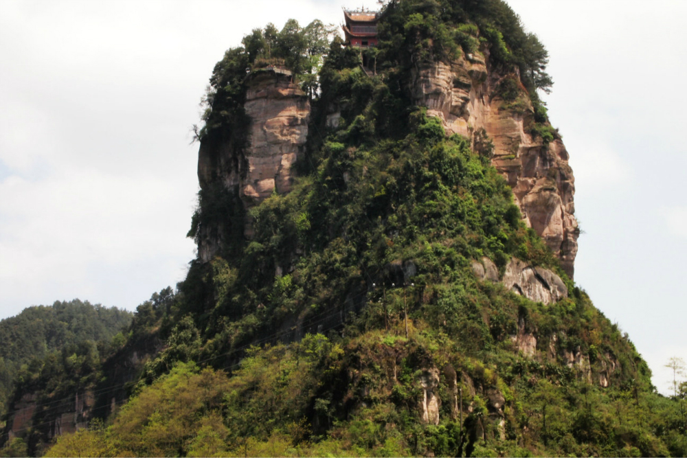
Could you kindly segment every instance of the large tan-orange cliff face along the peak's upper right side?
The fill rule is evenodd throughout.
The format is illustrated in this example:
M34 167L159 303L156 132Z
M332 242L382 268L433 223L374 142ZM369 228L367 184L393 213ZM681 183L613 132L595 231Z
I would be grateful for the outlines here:
M488 50L484 54L486 59L462 57L414 71L414 101L439 117L447 133L471 139L475 150L493 143L492 163L513 188L526 224L544 238L572 277L579 230L567 151L560 139L547 145L530 134L534 113L529 100L523 98L518 110L505 108L497 87L504 78L519 77L491 68Z

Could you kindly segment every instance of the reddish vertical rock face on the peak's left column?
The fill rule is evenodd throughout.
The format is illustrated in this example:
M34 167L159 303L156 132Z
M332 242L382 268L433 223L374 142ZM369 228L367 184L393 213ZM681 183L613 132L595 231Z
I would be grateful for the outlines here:
M245 113L250 119L246 145L238 134L222 141L203 141L198 153L198 180L202 190L221 183L249 209L273 192L291 190L293 164L304 151L308 136L310 100L295 82L291 71L268 67L248 80ZM223 227L201 227L198 254L207 262L222 245ZM245 235L251 236L251 221Z

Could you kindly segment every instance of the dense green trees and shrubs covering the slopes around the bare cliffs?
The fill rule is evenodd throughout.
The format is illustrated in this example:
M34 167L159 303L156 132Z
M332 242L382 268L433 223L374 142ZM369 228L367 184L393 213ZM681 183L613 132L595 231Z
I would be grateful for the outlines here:
M408 93L423 65L482 54L492 71L517 69L498 95L548 144L559 134L539 99L552 80L537 37L500 0L391 1L379 47L365 51L370 76L329 32L267 25L217 63L201 144L247 147L252 72L282 65L308 94L293 189L246 209L232 190L205 188L189 236L221 228L210 262L193 260L116 336L125 314L98 339L55 331L27 347L27 336L12 352L14 364L29 358L19 377L31 383L12 399L36 393L37 416L5 433L0 454L687 455L687 384L656 392L629 336L524 224L493 145L447 136ZM480 279L484 258L501 274L513 258L548 269L567 297L543 304ZM536 336L531 352L522 336ZM93 411L54 435L49 402L74 392L95 393Z

